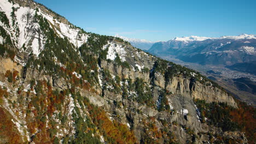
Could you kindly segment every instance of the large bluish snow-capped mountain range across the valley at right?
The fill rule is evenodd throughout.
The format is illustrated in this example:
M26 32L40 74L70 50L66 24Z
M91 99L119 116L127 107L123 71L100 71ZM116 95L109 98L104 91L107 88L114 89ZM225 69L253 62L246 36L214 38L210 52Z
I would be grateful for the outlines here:
M256 35L241 34L220 38L176 37L153 44L148 52L202 65L248 64L256 61Z

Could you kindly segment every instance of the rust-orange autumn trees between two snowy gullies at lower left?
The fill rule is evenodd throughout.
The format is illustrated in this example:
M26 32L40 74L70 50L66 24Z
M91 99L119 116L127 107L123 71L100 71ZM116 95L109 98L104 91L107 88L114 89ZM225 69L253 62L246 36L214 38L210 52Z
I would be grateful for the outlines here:
M37 95L32 95L32 100L28 103L27 109L31 111L26 116L28 131L34 135L32 137L34 143L53 143L55 136L50 137L49 132L53 125L49 123L46 128L46 120L48 120L46 117L53 115L56 105L61 104L65 99L66 92L54 94L52 87L46 81L37 81L37 85L34 87L35 89L39 87L38 91L42 91L42 93L38 92ZM38 106L39 109L36 108ZM46 107L46 111L42 107Z

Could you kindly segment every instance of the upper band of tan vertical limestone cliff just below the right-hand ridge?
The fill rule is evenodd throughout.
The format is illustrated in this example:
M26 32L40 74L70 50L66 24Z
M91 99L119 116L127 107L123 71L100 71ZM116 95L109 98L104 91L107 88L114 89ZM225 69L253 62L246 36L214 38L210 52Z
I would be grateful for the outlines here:
M136 78L139 78L150 84L150 73L141 73L127 68L115 67L113 63L107 63L107 61L103 61L101 65L102 68L108 69L113 75L118 75L123 79L131 79L132 81L135 81ZM154 84L162 89L166 89L175 94L181 94L184 97L191 99L203 99L208 103L213 101L223 102L234 107L237 106L235 100L226 92L223 92L219 88L206 86L198 81L193 81L191 78L193 77L185 78L183 76L175 76L172 77L170 81L165 81L164 75L157 73L154 75Z

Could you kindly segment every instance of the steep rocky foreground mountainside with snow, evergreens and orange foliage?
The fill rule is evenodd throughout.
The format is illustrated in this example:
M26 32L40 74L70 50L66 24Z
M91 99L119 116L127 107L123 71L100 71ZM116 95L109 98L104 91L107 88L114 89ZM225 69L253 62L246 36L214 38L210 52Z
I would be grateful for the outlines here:
M247 143L207 115L240 107L196 71L33 1L0 7L0 143Z

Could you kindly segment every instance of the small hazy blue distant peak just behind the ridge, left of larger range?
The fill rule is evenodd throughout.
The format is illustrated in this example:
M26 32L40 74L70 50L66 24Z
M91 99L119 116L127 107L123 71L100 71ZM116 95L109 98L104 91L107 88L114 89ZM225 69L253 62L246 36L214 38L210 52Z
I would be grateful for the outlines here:
M115 35L115 37L124 39L125 41L128 41L129 43L131 43L132 46L137 47L138 49L141 49L141 50L148 50L154 43L156 43L156 41L126 38L121 35Z

